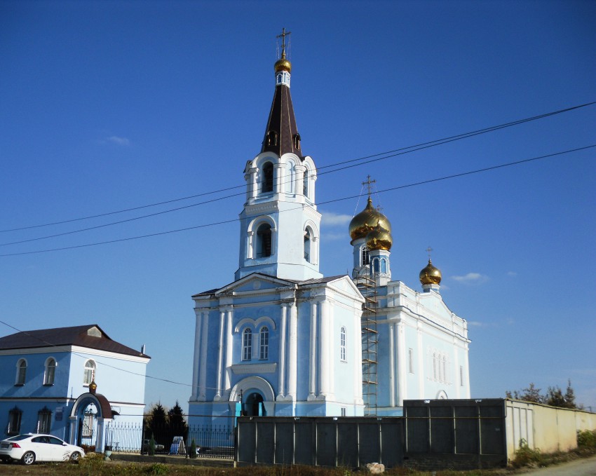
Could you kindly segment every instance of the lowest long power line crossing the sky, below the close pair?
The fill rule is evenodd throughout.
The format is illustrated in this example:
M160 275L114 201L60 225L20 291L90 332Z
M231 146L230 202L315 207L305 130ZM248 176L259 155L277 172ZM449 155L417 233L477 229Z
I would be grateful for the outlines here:
M567 151L554 152L553 154L546 154L546 155L543 155L543 156L538 156L538 157L533 157L533 158L526 158L526 159L522 159L520 161L503 163L503 164L499 164L499 165L492 165L491 167L486 167L486 168L481 168L481 169L476 169L476 170L468 170L467 172L460 172L460 173L457 173L457 174L445 175L443 177L437 177L437 178L434 178L434 179L427 179L427 180L423 180L421 182L413 182L411 184L394 186L394 187L391 187L391 188L388 188L388 189L378 190L377 193L384 193L384 192L388 192L388 191L395 191L395 190L400 190L400 189L407 189L407 188L412 187L412 186L419 186L419 185L424 185L424 184L430 184L430 183L433 183L433 182L440 182L442 180L454 179L456 177L464 177L466 175L473 175L473 174L477 174L477 173L480 173L480 172L488 172L489 170L496 170L496 169L499 169L499 168L510 167L512 165L520 165L522 163L528 163L528 162L532 162L532 161L539 161L539 160L544 159L544 158L549 158L549 157L554 157L554 156L560 156L562 154L570 154L571 152L582 151L582 150L585 150L585 149L590 149L592 147L596 147L596 144L588 145L588 146L585 146L585 147L578 147L576 149L569 149ZM358 195L351 195L351 196L346 196L346 197L342 197L342 198L334 198L332 200L326 200L324 202L320 202L320 203L318 203L318 205L326 205L327 203L336 203L336 202L340 202L340 201L344 201L344 200L350 200L352 198L357 198L357 197L358 197ZM297 207L297 208L302 208L302 205L299 205L299 207ZM290 210L294 210L294 209L290 209ZM287 211L290 211L290 210L287 210ZM238 218L234 218L234 219L229 219L229 220L223 220L221 222L212 222L212 223L208 223L208 224L202 224L202 225L196 225L196 226L188 226L188 227L182 228L182 229L169 230L169 231L161 231L161 232L158 232L158 233L149 233L147 235L132 236L132 237L128 237L128 238L118 238L116 240L107 240L107 241L101 241L101 242L97 242L97 243L86 243L84 245L73 245L73 246L66 246L66 247L60 247L60 248L52 248L52 249L49 249L49 250L35 250L35 251L27 251L27 252L0 254L0 257L18 256L18 255L21 255L21 254L48 253L48 252L54 252L54 251L73 250L73 249L82 248L82 247L107 245L107 244L110 244L110 243L118 243L118 242L121 242L121 241L139 240L141 238L150 238L150 237L153 237L153 236L167 235L167 234L170 234L170 233L179 233L181 231L189 231L189 230L194 230L194 229L199 229L199 228L205 228L205 227L208 227L208 226L217 226L217 225L222 225L222 224L227 224L227 223L233 223L233 222L236 222L237 220L238 220Z

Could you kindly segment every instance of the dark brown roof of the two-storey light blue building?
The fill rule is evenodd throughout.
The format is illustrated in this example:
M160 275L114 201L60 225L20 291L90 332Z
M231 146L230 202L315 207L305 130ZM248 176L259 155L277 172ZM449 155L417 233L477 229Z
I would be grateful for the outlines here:
M3 351L55 346L79 346L149 358L149 355L113 341L97 324L23 331L0 338L0 350Z

